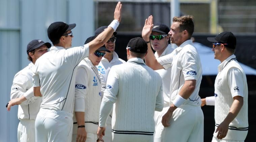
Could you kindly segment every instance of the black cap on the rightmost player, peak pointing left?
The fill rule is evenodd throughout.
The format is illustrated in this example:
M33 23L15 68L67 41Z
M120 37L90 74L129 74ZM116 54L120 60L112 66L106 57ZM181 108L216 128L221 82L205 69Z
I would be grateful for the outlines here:
M231 32L219 33L216 37L207 37L210 42L227 43L227 47L235 49L236 37Z

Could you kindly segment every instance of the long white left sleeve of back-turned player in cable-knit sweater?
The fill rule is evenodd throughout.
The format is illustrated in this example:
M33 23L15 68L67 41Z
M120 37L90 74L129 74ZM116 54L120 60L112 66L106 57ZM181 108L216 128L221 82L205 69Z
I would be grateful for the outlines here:
M117 100L118 92L118 74L115 67L112 67L108 74L107 86L104 91L104 96L101 102L101 109L99 111L99 126L106 127L107 117L113 109L113 104Z

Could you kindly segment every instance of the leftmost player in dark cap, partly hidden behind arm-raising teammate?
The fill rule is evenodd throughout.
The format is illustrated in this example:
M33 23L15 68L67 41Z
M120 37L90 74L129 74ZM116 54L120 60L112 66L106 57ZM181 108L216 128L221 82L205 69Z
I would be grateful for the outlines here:
M13 78L10 99L20 99L24 96L27 100L22 102L18 108L18 142L35 141L35 118L42 102L41 97L35 97L32 86L32 68L35 61L48 51L51 43L39 39L30 41L27 45L28 60L27 67L19 71Z

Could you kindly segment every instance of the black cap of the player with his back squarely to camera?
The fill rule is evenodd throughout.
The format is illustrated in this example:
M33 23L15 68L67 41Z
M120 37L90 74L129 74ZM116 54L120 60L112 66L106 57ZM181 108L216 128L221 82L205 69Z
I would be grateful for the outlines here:
M147 52L147 43L141 37L132 38L127 47L130 47L129 50L136 53L144 54Z

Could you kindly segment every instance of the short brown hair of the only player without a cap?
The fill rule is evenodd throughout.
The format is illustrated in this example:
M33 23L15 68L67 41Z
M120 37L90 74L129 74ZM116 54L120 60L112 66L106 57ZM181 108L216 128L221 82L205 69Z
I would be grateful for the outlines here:
M172 22L178 22L179 23L179 31L187 30L189 33L189 38L192 37L192 34L194 32L194 16L192 15L184 15L184 16L174 16L172 19Z

